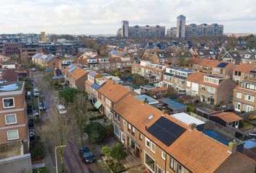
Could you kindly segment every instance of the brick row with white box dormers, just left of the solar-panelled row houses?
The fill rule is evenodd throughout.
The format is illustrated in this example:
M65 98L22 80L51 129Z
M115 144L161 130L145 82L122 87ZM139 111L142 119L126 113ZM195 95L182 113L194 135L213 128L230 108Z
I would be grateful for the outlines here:
M162 81L162 74L167 68L166 65L159 63L152 63L151 61L140 61L139 63L133 63L131 73L144 76L149 79L150 82L158 83Z

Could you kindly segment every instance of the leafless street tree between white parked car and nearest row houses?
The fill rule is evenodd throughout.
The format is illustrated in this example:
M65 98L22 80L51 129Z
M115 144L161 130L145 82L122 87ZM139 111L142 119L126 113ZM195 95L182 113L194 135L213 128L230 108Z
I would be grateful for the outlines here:
M80 130L81 145L84 146L83 133L89 117L88 108L91 107L87 94L81 92L75 95L74 101L69 104L69 113L74 116Z

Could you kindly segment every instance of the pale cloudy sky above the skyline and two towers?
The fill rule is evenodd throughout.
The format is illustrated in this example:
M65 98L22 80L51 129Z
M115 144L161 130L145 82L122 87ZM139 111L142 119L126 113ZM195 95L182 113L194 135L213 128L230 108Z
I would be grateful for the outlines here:
M0 33L115 34L123 19L169 28L180 14L255 33L255 9L255 0L0 0Z

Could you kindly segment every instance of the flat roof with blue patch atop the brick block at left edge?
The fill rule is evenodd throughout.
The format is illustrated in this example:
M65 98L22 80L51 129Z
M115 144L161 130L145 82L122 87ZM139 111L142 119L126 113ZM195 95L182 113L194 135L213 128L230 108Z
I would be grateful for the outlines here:
M17 92L22 90L24 81L12 81L0 83L0 92Z

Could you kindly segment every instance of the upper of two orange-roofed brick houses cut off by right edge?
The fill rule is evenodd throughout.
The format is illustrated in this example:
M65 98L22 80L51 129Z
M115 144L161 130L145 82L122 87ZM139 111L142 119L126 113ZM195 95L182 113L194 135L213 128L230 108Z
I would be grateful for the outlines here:
M255 65L252 63L240 63L234 68L233 80L239 83L247 79L256 79Z

